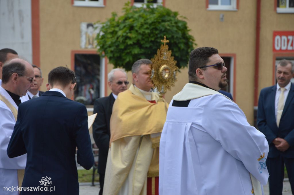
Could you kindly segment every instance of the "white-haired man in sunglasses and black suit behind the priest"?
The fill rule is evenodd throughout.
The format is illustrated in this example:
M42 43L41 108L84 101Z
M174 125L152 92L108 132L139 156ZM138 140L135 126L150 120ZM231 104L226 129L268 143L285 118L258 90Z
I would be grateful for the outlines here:
M101 97L95 100L93 114L97 117L93 123L93 138L99 148L98 173L100 182L99 195L102 195L107 154L110 139L110 117L113 103L118 93L127 90L127 74L123 69L115 68L108 73L108 86L112 93L107 97Z

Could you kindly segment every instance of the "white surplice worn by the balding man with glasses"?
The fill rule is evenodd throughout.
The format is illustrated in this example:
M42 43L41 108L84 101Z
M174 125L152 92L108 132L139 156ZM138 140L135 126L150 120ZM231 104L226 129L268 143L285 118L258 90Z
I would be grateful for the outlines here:
M17 105L0 86L0 94L3 95L15 108L18 110ZM26 167L26 154L16 158L9 158L6 152L13 128L15 125L15 118L9 107L0 101L0 194L15 195L19 191L3 191L4 187L17 187L18 177L17 169L25 169Z

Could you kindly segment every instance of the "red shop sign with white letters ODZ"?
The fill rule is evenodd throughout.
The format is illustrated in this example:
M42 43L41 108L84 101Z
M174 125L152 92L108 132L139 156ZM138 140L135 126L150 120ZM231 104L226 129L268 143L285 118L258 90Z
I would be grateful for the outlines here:
M274 31L274 52L294 52L294 31Z

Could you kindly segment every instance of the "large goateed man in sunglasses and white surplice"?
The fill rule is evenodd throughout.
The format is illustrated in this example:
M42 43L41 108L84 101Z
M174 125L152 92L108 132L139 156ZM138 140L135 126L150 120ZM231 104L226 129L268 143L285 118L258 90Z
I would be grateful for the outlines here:
M161 135L160 195L263 194L268 143L218 92L226 71L217 49L190 53L189 83L173 96Z

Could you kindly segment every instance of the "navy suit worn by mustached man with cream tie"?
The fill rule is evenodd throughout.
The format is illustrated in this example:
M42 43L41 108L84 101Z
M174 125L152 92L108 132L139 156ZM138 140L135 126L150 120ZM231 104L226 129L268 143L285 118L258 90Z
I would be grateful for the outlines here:
M284 164L287 168L291 189L294 192L294 85L290 86L279 127L275 117L276 90L277 86L274 85L260 91L257 112L257 126L269 144L266 165L270 174L271 195L282 193ZM273 144L276 137L285 139L290 145L285 152L281 152Z

